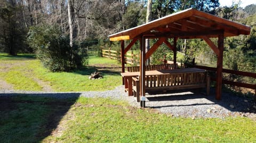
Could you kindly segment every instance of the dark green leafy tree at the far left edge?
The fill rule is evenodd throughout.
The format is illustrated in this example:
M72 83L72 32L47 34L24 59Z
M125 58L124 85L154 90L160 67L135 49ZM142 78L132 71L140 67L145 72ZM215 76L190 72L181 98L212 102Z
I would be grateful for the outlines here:
M3 2L0 9L1 26L0 41L2 51L10 55L17 55L20 49L25 48L26 26L23 25L22 10L13 0Z

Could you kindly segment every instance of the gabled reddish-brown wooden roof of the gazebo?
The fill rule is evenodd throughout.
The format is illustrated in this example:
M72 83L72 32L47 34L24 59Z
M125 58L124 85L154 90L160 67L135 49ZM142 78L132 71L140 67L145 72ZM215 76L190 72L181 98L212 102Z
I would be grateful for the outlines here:
M111 41L129 40L139 36L190 39L205 35L218 37L220 33L224 33L224 37L250 35L250 31L251 28L243 24L195 9L187 9L108 37Z

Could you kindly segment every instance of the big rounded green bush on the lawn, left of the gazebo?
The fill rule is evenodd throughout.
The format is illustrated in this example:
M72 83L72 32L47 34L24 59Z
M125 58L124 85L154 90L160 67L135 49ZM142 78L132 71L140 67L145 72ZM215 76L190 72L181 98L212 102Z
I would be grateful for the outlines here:
M77 43L70 47L68 36L63 36L55 26L31 27L27 40L50 71L71 71L87 64L86 49L80 48Z

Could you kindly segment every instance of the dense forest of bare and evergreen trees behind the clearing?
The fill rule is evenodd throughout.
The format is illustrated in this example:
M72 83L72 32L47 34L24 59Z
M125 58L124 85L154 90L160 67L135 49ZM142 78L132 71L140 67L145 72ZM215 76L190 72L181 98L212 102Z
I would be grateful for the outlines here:
M73 49L75 49L74 43L84 51L88 49L99 51L101 48L109 47L119 51L119 43L110 43L107 36L146 23L149 4L151 4L149 21L193 7L250 26L249 36L225 38L223 66L231 70L256 71L256 5L248 5L243 9L239 6L241 2L233 2L231 6L220 7L218 0L0 0L0 52L10 55L36 53L38 51L36 49L41 49L35 44L35 40L42 38L36 37L40 32L43 38L50 37L48 39L50 41L56 41L58 38L58 41L68 41L69 47ZM55 33L59 31L59 35L49 36L49 33L44 32L49 29L53 29ZM31 37L33 33L36 34ZM66 40L65 38L63 40L62 36L66 36ZM37 42L44 42L47 46L47 41ZM69 47L66 46L66 49ZM137 49L136 45L132 47L134 51ZM182 60L195 57L197 64L216 65L217 57L204 40L179 39L178 51L187 57ZM55 54L58 56L58 53ZM150 63L160 63L164 55L166 60L172 60L172 52L162 45L150 57ZM82 57L79 60L84 59ZM49 61L45 64L49 64ZM226 74L225 78L233 81L256 82L255 79L229 74Z

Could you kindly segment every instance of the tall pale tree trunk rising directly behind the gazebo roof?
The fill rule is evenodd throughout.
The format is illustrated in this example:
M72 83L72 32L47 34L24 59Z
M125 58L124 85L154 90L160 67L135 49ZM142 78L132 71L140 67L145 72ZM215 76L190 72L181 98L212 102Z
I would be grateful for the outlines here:
M148 23L149 21L151 21L152 19L152 0L148 0L148 4L147 4L147 15L146 15L146 23ZM146 39L146 53L149 51L150 49L150 41L149 39ZM146 61L146 65L150 64L150 58L147 59Z

